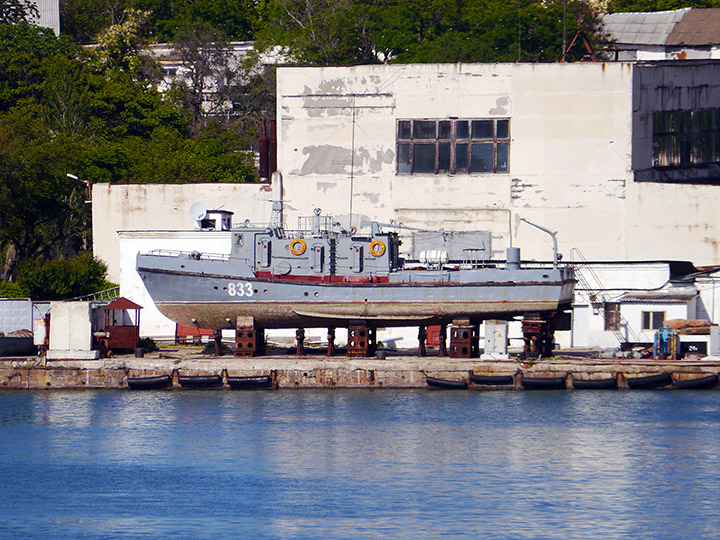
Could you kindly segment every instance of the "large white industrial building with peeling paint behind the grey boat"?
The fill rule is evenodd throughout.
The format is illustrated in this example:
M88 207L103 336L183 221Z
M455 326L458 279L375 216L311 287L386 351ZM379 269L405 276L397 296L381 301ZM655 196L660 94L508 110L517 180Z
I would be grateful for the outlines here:
M720 62L281 67L277 80L282 180L94 186L95 253L123 295L149 306L138 250L203 247L172 232L192 228L191 203L267 221L264 201L282 198L289 227L320 207L347 225L487 230L498 257L512 244L551 258L521 218L557 231L565 261L603 261L580 267L594 270L563 347L616 346L610 319L644 337L660 313L720 321L712 268L695 280L664 262L720 265Z

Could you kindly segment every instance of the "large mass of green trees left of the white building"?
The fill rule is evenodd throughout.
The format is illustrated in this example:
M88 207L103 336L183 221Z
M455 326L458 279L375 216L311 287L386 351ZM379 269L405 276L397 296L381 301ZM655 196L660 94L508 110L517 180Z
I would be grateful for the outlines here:
M141 21L125 18L91 51L26 23L0 25L0 252L23 260L89 248L93 182L256 179L244 134L163 95L138 60ZM143 67L145 66L145 67Z

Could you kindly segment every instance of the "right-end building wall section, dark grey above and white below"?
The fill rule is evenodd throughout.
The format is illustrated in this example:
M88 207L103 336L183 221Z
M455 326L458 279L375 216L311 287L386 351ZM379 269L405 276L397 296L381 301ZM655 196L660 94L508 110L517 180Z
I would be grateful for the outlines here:
M651 169L653 113L720 108L720 63L641 64L633 86L632 167L645 181L628 184L628 251L720 264L720 185L700 183L713 177L717 183L718 167Z

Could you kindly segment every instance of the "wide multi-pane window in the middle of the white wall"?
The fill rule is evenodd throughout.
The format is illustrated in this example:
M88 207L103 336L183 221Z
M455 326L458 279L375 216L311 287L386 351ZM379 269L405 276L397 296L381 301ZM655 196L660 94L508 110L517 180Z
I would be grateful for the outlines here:
M507 173L510 119L398 120L398 174Z

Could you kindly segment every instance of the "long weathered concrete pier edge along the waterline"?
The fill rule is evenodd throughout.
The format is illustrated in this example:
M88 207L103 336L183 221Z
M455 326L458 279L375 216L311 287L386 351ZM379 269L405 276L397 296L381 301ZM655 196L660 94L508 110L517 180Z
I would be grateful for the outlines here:
M227 377L270 375L274 386L284 388L426 388L425 376L470 382L470 374L512 375L514 384L502 389L522 389L522 377L565 377L573 388L575 379L613 377L619 388L627 379L670 373L673 381L720 373L720 359L697 361L596 360L554 357L525 362L487 361L447 357L388 356L378 358L328 358L326 356L264 356L235 358L193 352L161 352L118 356L101 360L41 358L0 359L0 389L127 388L129 377L171 375L180 388L179 376ZM485 386L471 388L487 389ZM671 388L672 385L667 386Z

